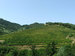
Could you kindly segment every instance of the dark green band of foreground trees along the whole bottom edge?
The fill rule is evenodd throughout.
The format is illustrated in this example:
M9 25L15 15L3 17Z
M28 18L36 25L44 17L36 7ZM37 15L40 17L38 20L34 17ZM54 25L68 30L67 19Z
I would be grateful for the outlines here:
M75 46L65 45L58 49L55 46L50 43L45 49L36 49L36 46L32 45L31 50L0 46L0 56L75 56Z

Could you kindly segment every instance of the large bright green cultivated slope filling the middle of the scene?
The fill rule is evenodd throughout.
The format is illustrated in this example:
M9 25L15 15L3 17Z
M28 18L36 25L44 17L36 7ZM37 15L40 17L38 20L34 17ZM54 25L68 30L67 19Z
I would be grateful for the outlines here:
M71 43L71 40L66 39L70 33L75 33L75 30L58 25L45 25L41 28L31 28L6 34L0 39L6 40L5 44L8 45L44 45L55 41L58 46L62 46Z

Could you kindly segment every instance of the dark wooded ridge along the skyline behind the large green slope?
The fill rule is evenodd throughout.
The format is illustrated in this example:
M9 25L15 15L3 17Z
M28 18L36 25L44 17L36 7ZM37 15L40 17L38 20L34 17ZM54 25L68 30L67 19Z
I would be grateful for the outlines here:
M70 24L70 23L61 23L61 22L46 22L45 24L43 23L33 23L30 25L23 25L22 27L24 27L25 29L31 29L31 28L40 28L46 25L57 25L57 26L64 26L66 28L70 28L72 30L75 30L75 25L74 24Z

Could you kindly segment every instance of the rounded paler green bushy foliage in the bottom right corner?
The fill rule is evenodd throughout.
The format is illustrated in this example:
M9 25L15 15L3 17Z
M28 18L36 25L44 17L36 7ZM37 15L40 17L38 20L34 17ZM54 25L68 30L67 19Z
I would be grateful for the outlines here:
M75 46L61 47L57 53L57 56L75 56Z

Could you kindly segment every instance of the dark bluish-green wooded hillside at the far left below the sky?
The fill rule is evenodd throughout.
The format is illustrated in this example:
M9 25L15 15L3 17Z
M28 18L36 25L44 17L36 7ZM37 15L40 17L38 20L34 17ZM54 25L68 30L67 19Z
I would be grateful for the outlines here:
M0 35L18 30L21 25L0 18Z

